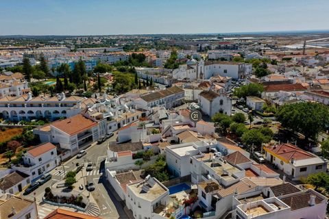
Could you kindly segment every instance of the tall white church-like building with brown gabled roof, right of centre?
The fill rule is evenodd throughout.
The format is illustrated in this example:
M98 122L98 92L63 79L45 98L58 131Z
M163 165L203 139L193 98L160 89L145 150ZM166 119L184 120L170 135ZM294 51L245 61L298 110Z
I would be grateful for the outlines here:
M199 106L204 114L214 116L217 112L231 115L232 100L224 93L218 94L212 90L204 90L199 94Z

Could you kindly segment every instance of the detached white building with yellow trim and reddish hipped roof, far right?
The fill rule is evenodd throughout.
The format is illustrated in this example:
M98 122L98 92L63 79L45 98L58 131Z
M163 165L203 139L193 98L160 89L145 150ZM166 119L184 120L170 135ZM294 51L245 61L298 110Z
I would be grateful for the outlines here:
M293 180L327 170L326 160L290 143L264 146L264 150L265 158Z

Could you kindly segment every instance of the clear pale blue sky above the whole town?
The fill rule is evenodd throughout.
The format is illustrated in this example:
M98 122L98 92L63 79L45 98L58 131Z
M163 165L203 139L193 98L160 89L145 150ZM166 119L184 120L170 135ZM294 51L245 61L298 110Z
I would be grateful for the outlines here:
M0 35L329 29L328 0L0 0Z

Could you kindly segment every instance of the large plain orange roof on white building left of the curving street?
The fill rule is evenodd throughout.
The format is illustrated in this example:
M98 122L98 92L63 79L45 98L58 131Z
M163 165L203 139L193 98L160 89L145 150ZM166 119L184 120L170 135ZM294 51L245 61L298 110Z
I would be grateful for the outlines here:
M86 129L90 129L91 127L95 127L96 125L96 122L90 118L86 118L82 114L77 114L71 118L66 118L64 120L58 120L54 123L51 123L51 126L64 131L70 136L73 136L76 133L80 133Z

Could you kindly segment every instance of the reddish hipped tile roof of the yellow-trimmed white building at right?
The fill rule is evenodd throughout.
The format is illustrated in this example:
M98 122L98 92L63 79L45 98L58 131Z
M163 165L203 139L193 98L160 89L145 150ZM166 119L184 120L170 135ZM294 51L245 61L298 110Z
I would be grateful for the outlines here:
M314 155L290 143L265 147L264 149L272 155L277 155L279 159L284 159L285 162L289 162L292 158L298 160L315 157Z

